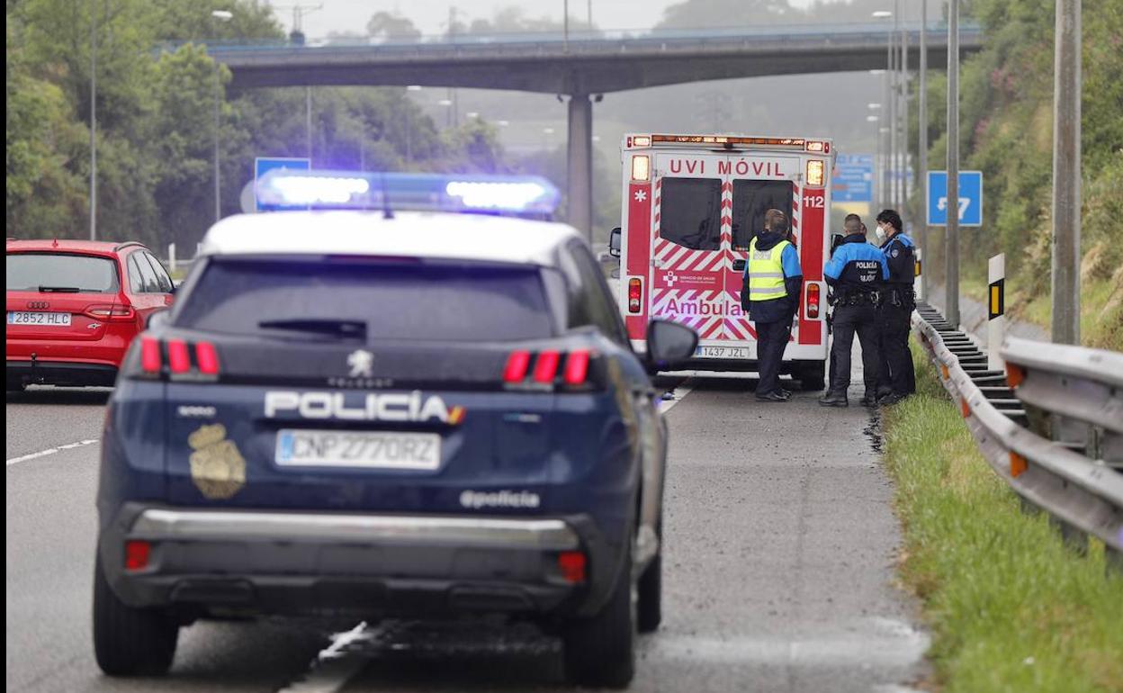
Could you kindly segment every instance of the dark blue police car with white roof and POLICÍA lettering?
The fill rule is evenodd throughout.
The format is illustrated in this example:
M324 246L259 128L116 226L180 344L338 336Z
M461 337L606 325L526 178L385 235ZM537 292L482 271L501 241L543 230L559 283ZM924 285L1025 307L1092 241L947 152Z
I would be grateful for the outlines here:
M574 681L631 680L660 620L649 373L696 334L654 320L637 356L567 226L378 209L556 197L433 177L274 177L296 204L375 209L216 224L130 348L98 490L106 673L167 671L197 619L501 613L560 635Z

